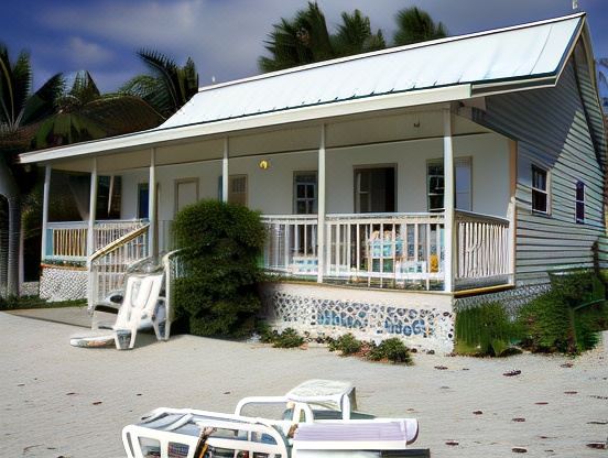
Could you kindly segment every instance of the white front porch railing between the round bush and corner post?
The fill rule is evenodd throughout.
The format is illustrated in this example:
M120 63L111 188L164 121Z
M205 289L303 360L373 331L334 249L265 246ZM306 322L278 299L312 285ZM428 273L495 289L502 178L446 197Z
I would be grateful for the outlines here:
M264 216L263 265L290 276L316 277L316 215ZM443 282L443 215L328 215L325 281L432 288ZM432 285L433 283L433 285Z

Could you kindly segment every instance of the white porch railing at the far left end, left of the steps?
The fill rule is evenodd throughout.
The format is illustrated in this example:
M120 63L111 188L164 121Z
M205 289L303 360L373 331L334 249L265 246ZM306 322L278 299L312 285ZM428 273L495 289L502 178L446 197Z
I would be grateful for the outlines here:
M106 247L144 225L146 221L140 219L96 221L93 251ZM86 261L87 221L48 222L46 231L45 260Z

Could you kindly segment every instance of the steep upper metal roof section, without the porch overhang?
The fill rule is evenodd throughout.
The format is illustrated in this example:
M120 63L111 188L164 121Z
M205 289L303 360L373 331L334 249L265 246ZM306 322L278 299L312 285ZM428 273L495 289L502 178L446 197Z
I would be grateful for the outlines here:
M203 88L160 129L462 84L556 76L583 14Z

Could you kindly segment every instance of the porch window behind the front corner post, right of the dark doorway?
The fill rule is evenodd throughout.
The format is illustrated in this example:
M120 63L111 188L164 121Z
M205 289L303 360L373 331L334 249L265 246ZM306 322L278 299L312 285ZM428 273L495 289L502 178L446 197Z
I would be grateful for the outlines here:
M473 210L473 173L470 157L454 161L454 175L456 193L454 205L459 210ZM443 161L430 161L426 165L426 182L428 194L428 211L443 211L444 209L444 166Z

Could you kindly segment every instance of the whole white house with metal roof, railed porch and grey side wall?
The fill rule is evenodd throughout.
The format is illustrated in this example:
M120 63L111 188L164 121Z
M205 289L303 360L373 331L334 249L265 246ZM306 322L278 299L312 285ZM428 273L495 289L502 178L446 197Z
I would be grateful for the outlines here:
M100 294L171 248L180 208L221 198L263 215L278 327L437 351L459 307L594 266L605 160L584 14L202 88L158 129L21 155L46 166L42 294ZM52 171L91 175L87 221L48 220ZM95 219L99 177L118 221Z

